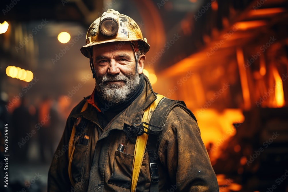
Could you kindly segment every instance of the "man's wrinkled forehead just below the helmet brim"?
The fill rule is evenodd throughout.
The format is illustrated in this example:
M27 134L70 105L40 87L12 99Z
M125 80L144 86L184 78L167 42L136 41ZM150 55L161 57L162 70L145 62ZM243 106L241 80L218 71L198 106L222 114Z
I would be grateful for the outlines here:
M118 42L110 42L110 43L103 43L99 45L92 46L93 54L97 54L100 52L128 52L134 54L133 48L130 44L130 41L118 41Z

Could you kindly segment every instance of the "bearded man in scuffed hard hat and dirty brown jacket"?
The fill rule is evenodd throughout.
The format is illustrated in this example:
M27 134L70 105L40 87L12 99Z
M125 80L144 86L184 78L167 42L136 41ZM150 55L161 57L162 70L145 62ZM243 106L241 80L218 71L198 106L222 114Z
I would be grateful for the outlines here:
M91 24L81 52L90 58L96 87L67 119L48 191L219 191L194 115L165 98L152 113L149 122L156 124L146 130L147 149L140 151L144 157L134 174L134 152L146 134L140 128L143 113L160 97L143 75L148 50L136 22L113 9Z

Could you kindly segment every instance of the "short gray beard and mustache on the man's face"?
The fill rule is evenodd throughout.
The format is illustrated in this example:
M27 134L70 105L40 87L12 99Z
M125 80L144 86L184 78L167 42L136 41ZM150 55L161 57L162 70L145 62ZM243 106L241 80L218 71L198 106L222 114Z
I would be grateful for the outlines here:
M107 81L119 81L122 80L124 85L110 84ZM112 104L118 104L121 101L128 100L130 94L137 88L140 82L140 76L138 73L135 75L110 75L106 74L102 78L95 79L96 90L101 94L102 98Z

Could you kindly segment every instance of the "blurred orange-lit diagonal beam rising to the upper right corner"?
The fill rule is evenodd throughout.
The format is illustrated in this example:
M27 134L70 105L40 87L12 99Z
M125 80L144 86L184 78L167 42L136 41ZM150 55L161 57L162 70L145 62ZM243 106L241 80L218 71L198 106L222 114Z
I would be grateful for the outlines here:
M159 75L173 77L191 69L197 70L197 68L213 64L212 62L224 65L228 59L223 60L223 58L236 56L236 47L241 47L253 39L259 38L259 34L264 30L268 31L269 28L275 24L287 22L287 8L280 7L285 3L284 0L267 0L266 3L267 5L264 4L266 7L263 5L264 10L260 8L253 10L253 5L257 4L256 0L253 1L245 11L235 17L233 22L231 22L230 27L223 29L217 37L213 38L213 41L207 43L206 46L198 52L191 54L179 62L176 62L174 65L162 70ZM267 6L271 8L268 8ZM251 14L252 12L255 13ZM268 14L264 14L265 12ZM237 24L239 29L233 31L233 27L235 29ZM217 48L215 54L207 56L207 53L211 52L211 47L215 47L215 43L219 44L219 42L223 40L223 36L231 31L233 32L233 35L231 35L231 37L228 36L229 38Z

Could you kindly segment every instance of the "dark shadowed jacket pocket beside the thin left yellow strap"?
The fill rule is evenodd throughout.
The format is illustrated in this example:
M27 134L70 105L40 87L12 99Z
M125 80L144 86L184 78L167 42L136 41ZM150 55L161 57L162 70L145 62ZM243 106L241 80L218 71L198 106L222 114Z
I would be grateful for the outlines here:
M75 144L73 159L71 163L72 177L75 183L79 182L82 177L84 164L86 161L88 145Z

